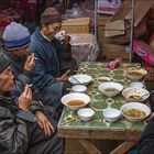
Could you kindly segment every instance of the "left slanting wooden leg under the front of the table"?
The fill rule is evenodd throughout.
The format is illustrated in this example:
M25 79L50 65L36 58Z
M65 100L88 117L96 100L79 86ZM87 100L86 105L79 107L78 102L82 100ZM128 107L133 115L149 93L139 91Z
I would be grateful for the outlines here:
M101 152L89 141L85 139L77 140L86 150L87 154L101 154Z

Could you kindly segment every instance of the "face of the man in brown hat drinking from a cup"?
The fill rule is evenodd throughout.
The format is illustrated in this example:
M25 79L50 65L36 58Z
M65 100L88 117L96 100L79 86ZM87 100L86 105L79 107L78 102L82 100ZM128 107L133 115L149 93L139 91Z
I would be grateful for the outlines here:
M48 25L42 25L43 34L50 40L53 40L54 36L61 31L61 29L62 29L62 22L57 22Z

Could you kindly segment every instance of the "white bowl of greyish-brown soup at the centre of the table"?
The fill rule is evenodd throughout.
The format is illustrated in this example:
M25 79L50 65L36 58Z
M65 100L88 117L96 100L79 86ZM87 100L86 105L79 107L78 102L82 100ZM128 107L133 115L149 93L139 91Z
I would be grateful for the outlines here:
M120 91L123 89L123 86L119 82L102 82L99 85L98 89L108 97L114 97L120 94Z

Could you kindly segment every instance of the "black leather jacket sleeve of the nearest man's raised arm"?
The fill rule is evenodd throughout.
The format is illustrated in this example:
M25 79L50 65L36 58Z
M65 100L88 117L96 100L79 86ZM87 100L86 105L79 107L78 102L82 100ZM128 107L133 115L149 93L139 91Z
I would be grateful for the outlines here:
M8 110L0 109L0 144L6 151L12 154L26 152L32 125L33 116L30 112L19 111L16 117Z

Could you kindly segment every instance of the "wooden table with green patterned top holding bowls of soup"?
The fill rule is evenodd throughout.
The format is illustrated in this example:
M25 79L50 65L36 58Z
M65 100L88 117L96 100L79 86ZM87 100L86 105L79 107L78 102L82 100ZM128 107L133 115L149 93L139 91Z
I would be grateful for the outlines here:
M123 64L113 70L106 68L106 63L81 63L79 74L88 74L92 76L94 80L88 86L87 95L90 96L91 101L89 107L95 110L95 117L89 122L84 122L78 119L76 114L69 109L64 109L57 127L57 134L62 138L79 139L80 143L87 148L88 153L100 154L100 152L89 142L89 139L101 140L121 140L124 141L111 154L124 153L131 146L135 145L141 132L144 130L146 122L130 122L124 118L111 123L107 122L102 117L102 110L108 106L120 108L125 101L122 95L113 98L103 96L98 90L96 78L99 76L109 76L112 81L121 82L128 86L131 80L124 75L127 67L140 67L140 64ZM143 81L144 84L144 81ZM90 147L90 150L89 150Z

